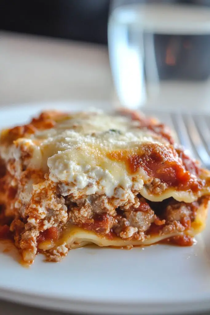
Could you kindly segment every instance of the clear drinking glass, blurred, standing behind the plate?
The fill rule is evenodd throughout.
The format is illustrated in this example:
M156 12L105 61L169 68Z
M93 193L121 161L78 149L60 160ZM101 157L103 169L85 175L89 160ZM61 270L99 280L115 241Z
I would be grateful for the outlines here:
M114 0L108 47L121 106L209 110L209 0Z

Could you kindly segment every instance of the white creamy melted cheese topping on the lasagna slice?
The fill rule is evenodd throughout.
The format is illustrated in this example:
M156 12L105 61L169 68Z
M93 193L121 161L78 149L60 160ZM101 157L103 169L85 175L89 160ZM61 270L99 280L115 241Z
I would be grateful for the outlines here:
M119 195L144 185L143 170L128 174L125 163L112 160L108 153L138 150L143 143L168 145L161 136L140 130L139 122L128 117L101 112L74 113L57 123L56 128L31 135L33 149L29 167L49 170L49 179L66 186L65 193ZM21 144L21 139L18 140ZM26 141L26 140L24 140Z

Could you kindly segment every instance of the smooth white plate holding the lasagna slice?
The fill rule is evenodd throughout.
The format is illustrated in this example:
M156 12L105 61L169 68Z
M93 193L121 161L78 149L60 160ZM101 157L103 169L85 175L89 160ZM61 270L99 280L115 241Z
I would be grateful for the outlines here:
M51 107L72 110L83 106ZM0 127L23 123L43 107L50 106L19 106L18 112L14 107L1 109ZM129 251L93 247L71 250L60 263L43 259L38 255L30 268L24 268L14 251L0 251L0 296L35 306L98 314L172 314L210 309L208 227L192 247L154 245Z

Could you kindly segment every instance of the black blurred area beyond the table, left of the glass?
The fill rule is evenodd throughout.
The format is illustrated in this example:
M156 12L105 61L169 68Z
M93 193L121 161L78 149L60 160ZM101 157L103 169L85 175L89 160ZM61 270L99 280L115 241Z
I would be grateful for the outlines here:
M107 44L109 0L2 0L1 29Z

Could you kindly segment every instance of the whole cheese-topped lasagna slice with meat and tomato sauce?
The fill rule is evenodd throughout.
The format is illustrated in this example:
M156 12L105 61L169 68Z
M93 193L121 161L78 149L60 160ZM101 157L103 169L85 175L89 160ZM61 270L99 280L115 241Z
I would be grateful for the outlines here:
M0 136L0 237L23 260L90 243L192 245L210 174L138 112L43 112Z

